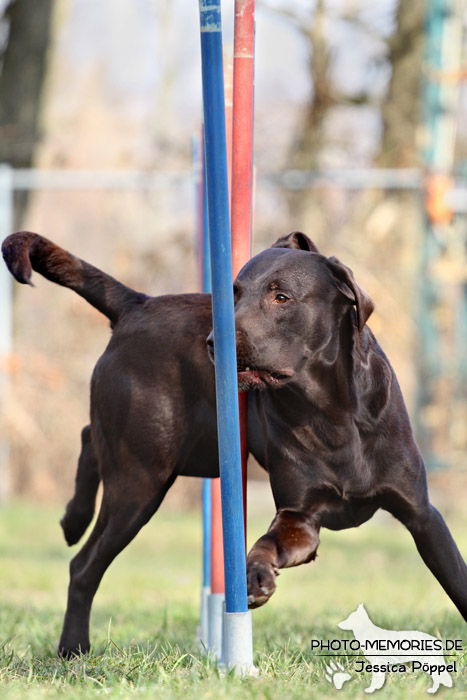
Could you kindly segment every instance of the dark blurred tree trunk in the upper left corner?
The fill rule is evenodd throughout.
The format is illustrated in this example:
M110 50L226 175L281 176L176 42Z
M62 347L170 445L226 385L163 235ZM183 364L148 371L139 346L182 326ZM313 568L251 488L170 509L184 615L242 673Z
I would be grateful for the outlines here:
M8 34L0 75L0 163L30 167L40 139L40 106L54 0L12 0L3 16ZM17 199L15 225L26 193Z

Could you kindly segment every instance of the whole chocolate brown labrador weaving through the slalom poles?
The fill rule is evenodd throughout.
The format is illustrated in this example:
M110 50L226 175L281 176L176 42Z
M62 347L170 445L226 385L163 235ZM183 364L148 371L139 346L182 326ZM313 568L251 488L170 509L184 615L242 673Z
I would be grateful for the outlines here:
M70 287L111 321L91 381L76 493L62 521L73 544L62 655L89 650L91 605L117 554L157 510L178 475L218 475L208 295L151 298L47 239L8 237L15 278L31 268ZM423 461L397 380L365 325L373 303L351 271L293 233L253 258L235 282L239 387L249 391L248 448L270 474L277 515L248 555L250 607L280 568L316 556L321 526L354 527L378 508L400 519L467 618L467 568L430 505ZM260 390L260 391L258 391Z

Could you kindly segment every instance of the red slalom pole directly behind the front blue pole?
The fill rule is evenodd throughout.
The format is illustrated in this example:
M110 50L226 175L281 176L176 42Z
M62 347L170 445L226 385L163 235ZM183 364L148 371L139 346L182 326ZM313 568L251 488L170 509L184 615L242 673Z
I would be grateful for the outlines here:
M251 257L254 64L255 0L235 0L230 212L234 279ZM239 395L239 412L246 538L247 394Z

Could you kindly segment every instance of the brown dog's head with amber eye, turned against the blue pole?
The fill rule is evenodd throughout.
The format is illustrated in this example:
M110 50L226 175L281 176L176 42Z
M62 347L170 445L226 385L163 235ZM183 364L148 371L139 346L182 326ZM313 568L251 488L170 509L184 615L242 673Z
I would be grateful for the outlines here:
M252 258L234 283L239 388L280 387L309 366L332 365L344 317L355 332L374 309L352 271L303 233ZM213 356L212 334L208 339Z

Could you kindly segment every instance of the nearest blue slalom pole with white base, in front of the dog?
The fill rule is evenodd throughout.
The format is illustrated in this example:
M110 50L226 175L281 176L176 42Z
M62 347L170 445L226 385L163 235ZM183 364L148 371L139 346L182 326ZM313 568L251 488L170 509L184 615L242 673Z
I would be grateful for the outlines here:
M246 670L252 666L251 615L246 591L220 0L200 0L200 25L225 566L224 662ZM245 639L248 630L249 639Z

